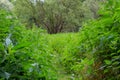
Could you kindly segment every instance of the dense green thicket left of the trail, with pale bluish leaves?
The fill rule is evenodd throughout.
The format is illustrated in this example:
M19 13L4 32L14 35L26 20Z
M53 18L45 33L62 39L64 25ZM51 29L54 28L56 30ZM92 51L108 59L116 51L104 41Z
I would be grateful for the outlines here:
M47 40L42 29L26 29L0 10L0 79L54 80Z

